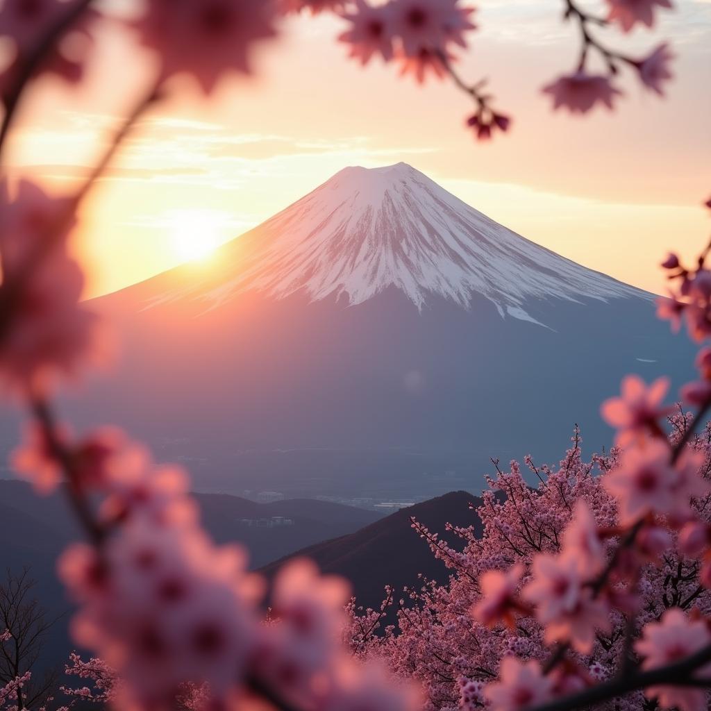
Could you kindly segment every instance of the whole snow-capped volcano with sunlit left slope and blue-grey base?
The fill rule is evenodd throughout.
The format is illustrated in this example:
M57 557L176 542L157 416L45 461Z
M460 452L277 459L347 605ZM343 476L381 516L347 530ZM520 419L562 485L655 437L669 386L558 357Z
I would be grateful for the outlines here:
M693 377L651 294L405 164L343 169L210 263L95 306L122 357L66 412L122 424L201 491L477 491L490 456L557 460L575 422L589 451L608 445L599 403L624 374Z

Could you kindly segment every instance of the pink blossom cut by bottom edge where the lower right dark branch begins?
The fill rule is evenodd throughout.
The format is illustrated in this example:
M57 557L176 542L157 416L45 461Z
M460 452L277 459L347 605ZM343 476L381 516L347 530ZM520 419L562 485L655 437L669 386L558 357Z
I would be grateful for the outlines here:
M543 675L536 661L504 657L500 679L484 688L491 711L524 711L550 700L552 695L553 681Z

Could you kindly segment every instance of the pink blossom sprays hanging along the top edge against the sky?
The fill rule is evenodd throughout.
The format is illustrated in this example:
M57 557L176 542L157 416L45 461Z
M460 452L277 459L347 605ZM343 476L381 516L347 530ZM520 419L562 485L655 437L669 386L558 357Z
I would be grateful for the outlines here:
M474 99L476 110L466 124L476 138L489 139L510 127L510 117L493 109L493 97L484 91L486 81L464 82L454 70L457 50L466 48L466 35L476 29L474 6L461 0L146 0L141 6L137 14L124 16L92 0L6 0L0 8L0 40L9 44L11 55L0 69L6 124L30 80L54 75L70 84L80 82L102 26L109 23L127 26L139 46L156 58L151 97L164 92L176 75L191 75L209 95L225 74L252 73L256 46L279 36L283 16L307 10L341 18L345 29L338 40L362 65L378 55L419 83L429 76L450 78ZM582 48L576 70L543 87L554 108L579 114L600 104L611 109L622 95L614 83L620 65L633 69L648 90L663 95L672 78L673 53L667 43L641 58L630 57L603 46L591 26L611 24L624 32L652 27L656 11L669 9L670 0L606 0L604 17L583 11L573 0L564 0L564 6L565 18L579 25ZM606 73L589 68L593 53Z

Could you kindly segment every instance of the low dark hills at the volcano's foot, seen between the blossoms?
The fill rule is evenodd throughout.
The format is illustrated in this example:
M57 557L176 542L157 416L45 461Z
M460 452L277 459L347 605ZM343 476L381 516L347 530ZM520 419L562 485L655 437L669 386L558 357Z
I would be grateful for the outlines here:
M225 494L196 494L205 527L218 542L239 541L250 548L252 566L272 577L280 565L294 555L307 555L324 572L347 577L359 604L377 606L386 584L402 589L420 584L419 573L445 582L449 575L436 560L427 542L410 526L410 517L461 547L456 536L445 532L447 522L481 523L470 504L481 498L466 491L453 491L415 506L402 508L379 518L368 510L327 501L295 499L255 503ZM292 524L268 525L274 517ZM262 523L246 523L260 521ZM70 612L63 587L55 576L55 560L71 540L80 538L73 519L59 493L38 497L21 481L0 481L0 571L31 568L36 595L50 614ZM60 621L44 650L44 661L63 661L71 648L66 624Z

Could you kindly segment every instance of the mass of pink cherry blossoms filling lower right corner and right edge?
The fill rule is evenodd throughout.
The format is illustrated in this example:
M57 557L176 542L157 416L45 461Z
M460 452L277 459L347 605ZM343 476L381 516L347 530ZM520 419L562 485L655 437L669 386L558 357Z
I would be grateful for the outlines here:
M696 326L697 313L709 308L705 258L694 270L675 255L663 264L680 291L678 306L662 301L661 313L685 314L697 340L710 335ZM682 389L695 417L665 405L667 378L647 385L628 375L620 395L601 407L616 429L608 455L582 461L576 429L559 469L527 457L538 488L516 462L508 473L495 462L498 476L477 510L483 535L452 528L464 551L413 521L455 575L449 585L411 591L397 626L359 640L360 655L414 673L432 710L596 701L632 710L646 707L645 697L661 708L707 709L711 423L702 434L694 427L711 406L708 353L697 359L701 380ZM382 619L374 611L351 615L351 629Z

